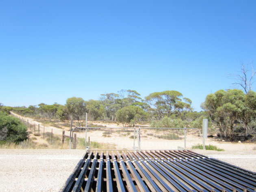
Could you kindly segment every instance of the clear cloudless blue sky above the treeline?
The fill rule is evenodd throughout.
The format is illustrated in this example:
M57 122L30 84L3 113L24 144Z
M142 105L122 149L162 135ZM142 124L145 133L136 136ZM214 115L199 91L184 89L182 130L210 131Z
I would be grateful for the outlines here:
M255 59L256 0L0 1L5 106L175 90L200 111Z

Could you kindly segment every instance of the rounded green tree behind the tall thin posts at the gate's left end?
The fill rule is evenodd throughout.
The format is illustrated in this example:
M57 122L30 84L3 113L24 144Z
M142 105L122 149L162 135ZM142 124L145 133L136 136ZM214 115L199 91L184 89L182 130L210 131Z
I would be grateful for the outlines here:
M82 116L85 114L86 106L85 100L81 97L71 97L66 101L67 112L71 116L72 119L78 120L78 124L80 126L80 121Z

